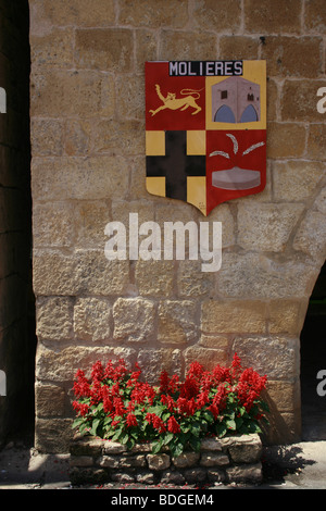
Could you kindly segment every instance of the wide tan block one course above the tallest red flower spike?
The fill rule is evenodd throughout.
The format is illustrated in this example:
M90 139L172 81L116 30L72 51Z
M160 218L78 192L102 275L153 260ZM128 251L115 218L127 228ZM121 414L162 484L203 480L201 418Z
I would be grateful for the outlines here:
M204 333L266 332L266 306L259 300L204 301L201 328Z

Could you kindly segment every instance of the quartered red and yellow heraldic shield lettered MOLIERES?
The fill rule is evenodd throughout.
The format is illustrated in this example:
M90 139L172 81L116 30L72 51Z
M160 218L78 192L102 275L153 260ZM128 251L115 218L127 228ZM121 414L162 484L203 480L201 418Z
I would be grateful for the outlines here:
M265 61L146 63L146 186L208 215L266 184Z

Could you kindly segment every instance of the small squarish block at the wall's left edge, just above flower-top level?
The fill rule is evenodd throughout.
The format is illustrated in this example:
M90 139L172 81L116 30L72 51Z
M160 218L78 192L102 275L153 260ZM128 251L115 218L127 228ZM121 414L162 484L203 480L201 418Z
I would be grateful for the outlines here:
M72 337L73 303L71 298L38 297L36 334L39 339L63 340Z

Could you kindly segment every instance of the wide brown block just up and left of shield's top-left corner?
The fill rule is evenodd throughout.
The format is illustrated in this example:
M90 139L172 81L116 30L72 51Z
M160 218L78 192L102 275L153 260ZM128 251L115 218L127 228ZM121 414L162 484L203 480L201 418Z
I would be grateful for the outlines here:
M129 28L83 28L75 33L75 61L79 68L133 71L133 32Z

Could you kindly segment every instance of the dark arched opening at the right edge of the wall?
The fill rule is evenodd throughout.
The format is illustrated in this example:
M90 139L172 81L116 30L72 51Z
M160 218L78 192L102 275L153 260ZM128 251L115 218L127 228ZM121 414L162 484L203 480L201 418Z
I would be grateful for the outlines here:
M301 333L302 439L326 440L326 395L317 377L326 371L326 263L314 286ZM324 385L326 389L326 385ZM318 394L319 391L319 394Z

